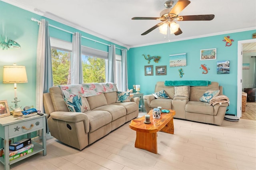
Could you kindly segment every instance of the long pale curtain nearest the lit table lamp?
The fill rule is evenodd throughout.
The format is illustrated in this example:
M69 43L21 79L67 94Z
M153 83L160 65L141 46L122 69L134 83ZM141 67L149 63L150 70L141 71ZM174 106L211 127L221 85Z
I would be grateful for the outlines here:
M47 93L52 86L52 56L48 21L42 19L39 24L36 53L36 109L43 113L43 93Z

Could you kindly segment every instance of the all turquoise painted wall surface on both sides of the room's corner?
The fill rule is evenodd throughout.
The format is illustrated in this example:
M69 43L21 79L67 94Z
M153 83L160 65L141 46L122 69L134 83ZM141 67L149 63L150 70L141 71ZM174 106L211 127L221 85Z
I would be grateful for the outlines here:
M28 83L17 84L18 99L21 100L18 105L36 105L36 46L38 38L38 24L31 21L31 18L40 20L44 17L28 12L16 6L12 6L0 1L0 34L8 36L8 38L18 42L20 49L0 49L0 100L7 100L8 105L12 105L14 98L14 85L2 83L2 73L4 65L26 66ZM11 12L10 12L11 11ZM70 32L80 32L82 36L98 40L106 44L112 42L92 36L85 32L81 32L70 26L66 26L59 22L55 22L46 18L49 24L68 30ZM252 34L256 30L224 34L219 36L210 36L206 38L197 38L192 40L184 40L178 42L162 43L158 45L148 45L144 47L135 47L128 50L128 87L132 89L133 84L140 84L141 92L150 94L154 91L156 81L165 80L210 80L217 81L224 88L224 94L230 98L229 113L236 113L237 100L237 47L239 40L248 40L252 38ZM71 42L72 35L56 28L49 27L50 36L61 40ZM234 40L230 47L225 47L222 40L224 36L230 36ZM95 43L82 38L82 45L108 51L108 46ZM120 45L116 47L124 48ZM200 61L200 49L217 48L217 59ZM186 53L187 66L182 67L184 76L179 77L178 69L180 67L169 67L169 55L177 53ZM116 49L116 54L121 54ZM150 64L142 57L144 55L161 56L158 63L151 61ZM217 75L216 61L230 60L230 74ZM208 74L202 74L200 64L206 64L210 68ZM154 75L144 76L144 65L154 65ZM155 66L167 65L167 75L157 75Z

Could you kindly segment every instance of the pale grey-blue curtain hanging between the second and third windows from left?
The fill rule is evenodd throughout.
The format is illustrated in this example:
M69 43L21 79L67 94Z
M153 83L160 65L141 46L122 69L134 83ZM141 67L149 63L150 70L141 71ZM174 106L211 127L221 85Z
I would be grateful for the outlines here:
M116 83L116 45L108 47L107 82Z

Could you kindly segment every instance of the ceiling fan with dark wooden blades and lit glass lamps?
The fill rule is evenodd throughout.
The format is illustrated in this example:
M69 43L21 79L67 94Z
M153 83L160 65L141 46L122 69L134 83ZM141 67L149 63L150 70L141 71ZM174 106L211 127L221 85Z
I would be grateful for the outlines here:
M175 6L173 5L172 0L168 0L164 3L164 6L167 8L160 12L160 18L158 17L133 17L132 20L160 20L162 22L156 24L152 28L146 30L141 35L144 36L154 29L159 27L160 33L167 34L168 29L170 28L170 34L174 34L176 36L182 34L182 31L179 28L179 24L174 22L177 21L210 21L214 18L214 14L207 15L188 15L188 16L178 16L178 14L190 4L189 0L178 0Z

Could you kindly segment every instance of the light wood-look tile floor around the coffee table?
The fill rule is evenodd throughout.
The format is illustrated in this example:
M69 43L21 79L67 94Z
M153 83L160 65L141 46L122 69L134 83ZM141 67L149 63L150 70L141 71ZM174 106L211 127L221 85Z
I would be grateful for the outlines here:
M47 155L35 154L12 170L255 170L256 121L224 120L221 126L174 119L174 134L158 132L158 154L134 148L136 132L126 123L76 150L55 138ZM4 166L0 164L0 170Z

